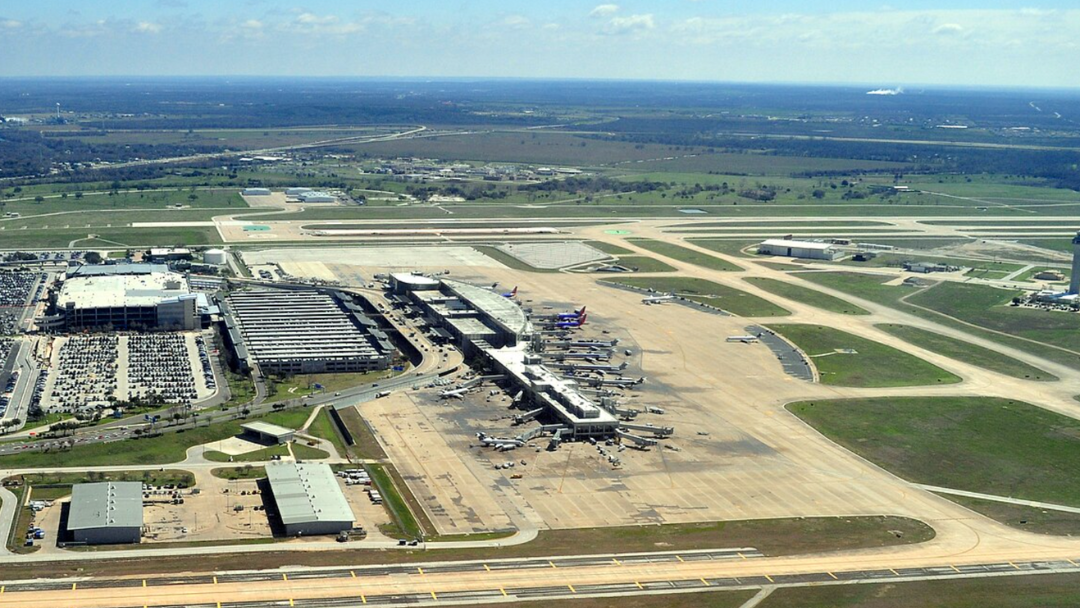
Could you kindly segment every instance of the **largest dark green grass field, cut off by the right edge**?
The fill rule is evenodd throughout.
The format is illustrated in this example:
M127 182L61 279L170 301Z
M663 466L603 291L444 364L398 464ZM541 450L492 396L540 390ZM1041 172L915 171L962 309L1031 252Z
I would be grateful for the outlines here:
M1080 420L996 397L818 401L787 409L910 482L1080 506Z

